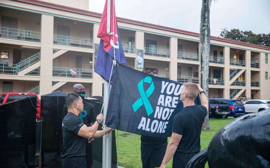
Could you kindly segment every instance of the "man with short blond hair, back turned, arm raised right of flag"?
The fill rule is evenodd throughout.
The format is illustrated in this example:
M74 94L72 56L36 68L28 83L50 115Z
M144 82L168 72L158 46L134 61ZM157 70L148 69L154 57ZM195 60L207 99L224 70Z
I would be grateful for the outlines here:
M202 105L194 104L198 93ZM188 161L201 150L201 127L208 113L208 100L202 88L192 82L183 84L180 100L184 108L174 116L171 140L160 168L166 168L172 156L173 168L185 168Z

